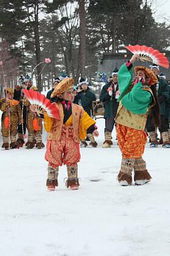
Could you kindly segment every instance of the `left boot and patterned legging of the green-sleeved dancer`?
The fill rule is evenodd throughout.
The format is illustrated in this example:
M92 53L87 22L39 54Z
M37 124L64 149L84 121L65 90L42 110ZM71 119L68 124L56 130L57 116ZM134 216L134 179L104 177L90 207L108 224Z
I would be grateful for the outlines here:
M118 182L121 186L132 185L132 170L134 168L135 159L122 158L121 169L118 174Z

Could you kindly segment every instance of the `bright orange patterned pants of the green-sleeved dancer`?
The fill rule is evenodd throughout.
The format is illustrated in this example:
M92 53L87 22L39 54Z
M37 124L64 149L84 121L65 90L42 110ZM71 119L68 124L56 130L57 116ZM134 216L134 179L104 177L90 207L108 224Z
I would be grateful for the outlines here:
M116 124L118 146L122 157L135 159L140 158L144 152L147 136L143 130L135 130L130 127Z

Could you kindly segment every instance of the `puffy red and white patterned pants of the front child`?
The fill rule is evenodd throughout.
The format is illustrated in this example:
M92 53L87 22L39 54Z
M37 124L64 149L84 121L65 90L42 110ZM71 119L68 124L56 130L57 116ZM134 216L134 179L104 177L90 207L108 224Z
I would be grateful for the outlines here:
M80 161L79 143L73 140L72 127L62 128L60 140L48 140L45 159L53 168L56 166L75 166Z

